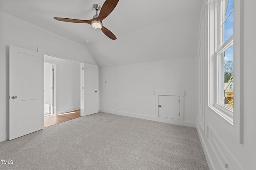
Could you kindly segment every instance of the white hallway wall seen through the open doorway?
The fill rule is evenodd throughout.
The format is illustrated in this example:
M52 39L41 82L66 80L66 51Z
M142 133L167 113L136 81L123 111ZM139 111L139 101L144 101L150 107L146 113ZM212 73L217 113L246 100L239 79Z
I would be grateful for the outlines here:
M57 63L56 114L80 109L80 63L46 55L44 61Z

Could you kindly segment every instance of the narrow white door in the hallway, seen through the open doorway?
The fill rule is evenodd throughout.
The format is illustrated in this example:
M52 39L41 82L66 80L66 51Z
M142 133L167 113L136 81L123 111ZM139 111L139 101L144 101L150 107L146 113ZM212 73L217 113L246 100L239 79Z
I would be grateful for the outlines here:
M44 63L44 114L52 112L53 105L53 64Z

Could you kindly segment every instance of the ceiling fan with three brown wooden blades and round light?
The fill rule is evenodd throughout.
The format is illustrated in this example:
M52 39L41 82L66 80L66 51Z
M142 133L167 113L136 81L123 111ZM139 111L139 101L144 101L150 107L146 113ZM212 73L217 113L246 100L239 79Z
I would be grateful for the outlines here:
M101 29L102 32L108 36L110 39L115 40L116 36L109 31L106 27L103 26L102 21L114 10L119 0L106 0L102 5L100 14L98 15L98 11L100 10L100 6L98 4L94 4L93 8L96 10L96 15L92 17L91 20L77 20L71 18L56 18L58 21L65 22L74 22L74 23L89 23L95 29Z

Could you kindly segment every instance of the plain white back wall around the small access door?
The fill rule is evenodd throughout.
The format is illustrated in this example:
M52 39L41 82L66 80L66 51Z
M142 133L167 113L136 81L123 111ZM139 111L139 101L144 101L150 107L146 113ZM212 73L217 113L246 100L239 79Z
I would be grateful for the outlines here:
M196 122L195 57L99 68L99 86L101 111L152 120L154 90L184 90L184 121Z

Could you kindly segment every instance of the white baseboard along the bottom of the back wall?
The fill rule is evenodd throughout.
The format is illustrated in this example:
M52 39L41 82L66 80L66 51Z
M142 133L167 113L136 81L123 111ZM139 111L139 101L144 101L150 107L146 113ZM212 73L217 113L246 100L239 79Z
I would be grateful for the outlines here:
M170 123L170 124L174 124L174 125L196 127L196 123L193 123L193 122L180 121L180 120L170 119L170 118L165 118L165 117L155 117L155 116L141 115L141 114L135 114L135 113L122 112L122 111L108 110L108 109L100 109L100 111L105 112L105 113L112 113L115 115L136 117L136 118L140 118L140 119L159 121L159 122L163 122L163 123Z

